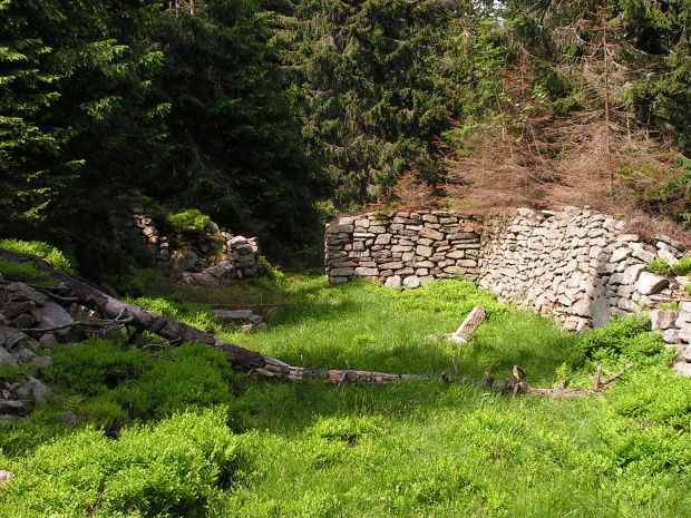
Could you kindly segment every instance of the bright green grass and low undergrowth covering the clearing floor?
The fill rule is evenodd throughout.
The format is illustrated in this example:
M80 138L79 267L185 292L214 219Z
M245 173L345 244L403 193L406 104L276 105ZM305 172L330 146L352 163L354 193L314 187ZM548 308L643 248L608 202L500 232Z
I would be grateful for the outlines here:
M93 339L51 351L49 404L0 429L0 469L17 473L0 516L688 516L691 380L670 372L644 316L580 336L457 281L401 292L289 277L282 290L269 331L222 338L318 368L439 374L455 362L483 378L496 362L510 379L518 364L535 387L592 388L598 365L603 379L634 366L596 395L512 400L438 377L272 382L205 346ZM155 299L138 302L202 311ZM476 304L485 323L447 342Z

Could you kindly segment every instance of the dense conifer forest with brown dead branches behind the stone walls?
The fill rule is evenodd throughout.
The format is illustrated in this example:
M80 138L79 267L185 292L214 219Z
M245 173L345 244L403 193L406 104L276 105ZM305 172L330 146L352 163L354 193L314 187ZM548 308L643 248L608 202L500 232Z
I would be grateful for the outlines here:
M689 0L3 0L0 237L115 268L133 198L284 264L372 207L689 225L690 35Z

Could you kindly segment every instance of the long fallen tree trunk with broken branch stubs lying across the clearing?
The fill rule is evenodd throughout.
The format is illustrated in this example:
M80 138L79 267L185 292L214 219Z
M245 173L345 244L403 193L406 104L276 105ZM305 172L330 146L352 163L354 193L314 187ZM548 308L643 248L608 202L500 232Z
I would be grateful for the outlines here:
M564 388L532 388L528 383L527 377L525 377L525 372L518 365L514 365L514 381L495 380L492 377L492 370L496 365L496 362L487 372L485 372L485 379L474 379L458 375L455 363L455 375L449 375L450 369L448 369L440 375L436 375L392 374L386 372L357 371L350 369L350 365L346 370L314 369L306 365L294 366L282 362L281 360L276 360L275 358L264 356L256 351L250 351L240 345L227 343L216 338L212 333L205 333L168 316L160 315L152 311L147 311L142 307L118 301L117 299L107 295L106 293L101 292L82 278L52 270L45 260L41 260L33 255L20 254L17 252L9 252L0 248L0 261L7 261L12 263L31 263L37 270L48 274L50 278L58 283L58 287L35 287L39 290L45 290L46 292L50 292L50 295L52 297L62 299L64 301L69 302L77 302L85 307L88 307L89 310L98 311L105 317L110 319L110 322L113 323L126 323L127 325L135 328L139 332L146 331L153 334L157 334L176 344L181 344L183 342L194 342L218 349L227 355L228 362L240 369L243 369L244 371L249 371L249 374L262 375L265 378L291 382L315 380L335 384L339 387L346 383L379 385L406 380L437 379L445 382L459 381L464 383L470 383L496 392L512 393L514 397L519 392L561 398L582 397L593 393L593 391L570 390ZM57 295L55 291L60 291L64 293L66 292L65 294L67 296ZM28 331L30 332L32 330ZM630 369L631 366L632 365L630 365L627 369ZM522 379L520 374L523 374L525 379ZM595 391L597 391L601 385L606 387L609 382L617 379L622 374L623 371L602 382L597 381L595 385Z

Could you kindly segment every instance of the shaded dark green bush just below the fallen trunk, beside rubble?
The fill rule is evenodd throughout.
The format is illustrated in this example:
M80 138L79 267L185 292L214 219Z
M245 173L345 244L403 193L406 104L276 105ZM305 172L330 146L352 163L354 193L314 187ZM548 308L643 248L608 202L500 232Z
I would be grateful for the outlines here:
M43 374L58 389L90 397L76 413L107 429L220 403L235 409L237 429L249 422L236 401L244 391L241 375L221 351L206 345L186 343L154 356L91 339L56 351Z

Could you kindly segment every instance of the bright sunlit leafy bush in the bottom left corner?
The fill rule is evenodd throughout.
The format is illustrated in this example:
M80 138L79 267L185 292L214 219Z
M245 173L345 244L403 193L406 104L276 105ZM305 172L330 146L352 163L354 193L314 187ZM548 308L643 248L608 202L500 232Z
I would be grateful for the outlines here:
M0 515L199 516L247 463L226 419L223 408L185 412L118 440L89 428L39 447L11 466Z

